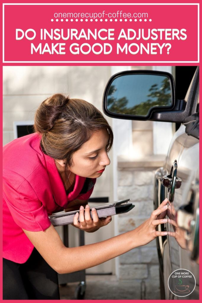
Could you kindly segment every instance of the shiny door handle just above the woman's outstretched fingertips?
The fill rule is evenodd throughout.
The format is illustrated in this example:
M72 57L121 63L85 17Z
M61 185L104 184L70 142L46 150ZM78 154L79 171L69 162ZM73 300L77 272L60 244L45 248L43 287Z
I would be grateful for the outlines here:
M173 202L175 189L180 188L182 180L177 177L177 160L174 161L170 175L165 175L162 178L162 185L168 187L169 201Z

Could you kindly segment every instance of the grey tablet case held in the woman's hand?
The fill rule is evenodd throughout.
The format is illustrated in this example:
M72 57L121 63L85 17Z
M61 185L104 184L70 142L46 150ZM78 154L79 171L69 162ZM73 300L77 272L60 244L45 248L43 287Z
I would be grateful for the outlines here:
M104 218L107 216L118 215L130 211L132 208L134 208L135 205L133 205L132 203L128 203L129 201L131 201L131 199L116 201L108 205L95 206L94 208L97 210L98 217ZM92 218L91 209L92 207L90 208L90 215ZM79 210L60 212L58 214L56 213L50 215L49 219L53 226L67 225L73 223L74 216L77 212L79 213ZM79 217L78 217L78 221L79 221Z

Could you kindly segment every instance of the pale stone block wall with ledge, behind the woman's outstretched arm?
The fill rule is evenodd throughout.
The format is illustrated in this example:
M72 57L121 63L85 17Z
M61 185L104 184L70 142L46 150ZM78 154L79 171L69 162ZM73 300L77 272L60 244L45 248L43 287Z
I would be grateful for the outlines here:
M123 233L141 225L153 207L155 170L164 156L148 156L139 161L118 161L118 199L131 198L135 207L118 216L118 231ZM156 241L137 247L119 257L119 279L134 281L135 299L160 299L159 262Z

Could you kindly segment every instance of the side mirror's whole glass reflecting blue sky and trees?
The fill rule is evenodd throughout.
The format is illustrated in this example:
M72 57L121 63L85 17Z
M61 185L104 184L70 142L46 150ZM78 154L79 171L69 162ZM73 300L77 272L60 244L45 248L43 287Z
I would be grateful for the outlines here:
M161 75L122 75L107 95L108 111L117 114L147 116L154 106L171 105L170 80Z

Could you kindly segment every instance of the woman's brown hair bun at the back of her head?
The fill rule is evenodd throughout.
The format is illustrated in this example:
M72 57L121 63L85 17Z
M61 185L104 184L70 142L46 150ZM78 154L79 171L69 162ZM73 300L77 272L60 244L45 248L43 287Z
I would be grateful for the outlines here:
M43 101L35 113L35 131L41 134L50 131L69 99L65 95L55 94Z

